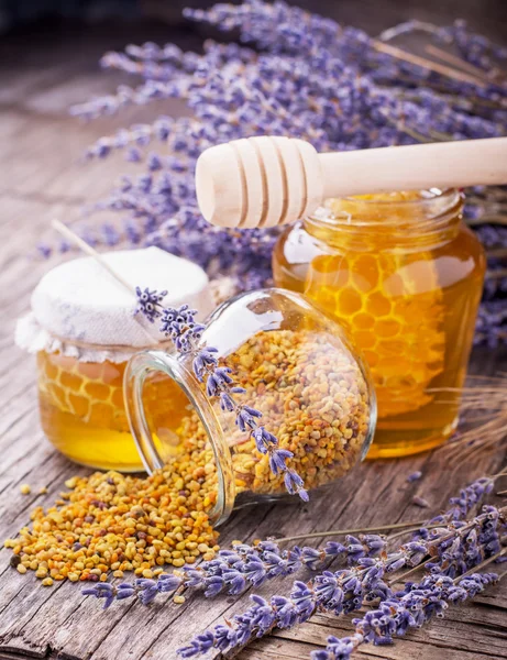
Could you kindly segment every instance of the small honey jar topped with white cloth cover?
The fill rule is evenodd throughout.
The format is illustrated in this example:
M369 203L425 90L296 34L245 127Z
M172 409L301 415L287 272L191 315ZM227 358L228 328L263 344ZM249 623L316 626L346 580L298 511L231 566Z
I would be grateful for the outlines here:
M16 342L36 353L41 424L47 439L70 460L103 470L143 469L129 430L123 374L143 348L164 346L157 328L134 317L135 286L167 289L167 305L189 302L211 311L208 277L197 265L157 248L101 255L131 290L91 257L49 271L20 319ZM163 338L162 338L163 339ZM150 383L145 405L170 416L185 396L167 381Z

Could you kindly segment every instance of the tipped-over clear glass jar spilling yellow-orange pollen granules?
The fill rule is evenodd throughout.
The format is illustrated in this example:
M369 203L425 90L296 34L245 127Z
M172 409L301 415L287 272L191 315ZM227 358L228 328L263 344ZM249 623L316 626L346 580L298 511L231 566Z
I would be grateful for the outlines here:
M222 409L196 377L192 360L203 346L217 349L219 365L231 369L242 388L234 395L239 404L258 410L263 427L291 452L287 466L305 488L333 483L365 455L375 397L340 324L295 293L242 294L211 315L194 352L144 351L125 372L128 415L146 470L168 469L185 475L181 488L206 488L213 521L223 521L234 506L282 497L287 488L252 430L240 428L234 411ZM163 405L152 406L146 388L153 383L178 389L185 403L170 415ZM189 465L196 466L190 474Z

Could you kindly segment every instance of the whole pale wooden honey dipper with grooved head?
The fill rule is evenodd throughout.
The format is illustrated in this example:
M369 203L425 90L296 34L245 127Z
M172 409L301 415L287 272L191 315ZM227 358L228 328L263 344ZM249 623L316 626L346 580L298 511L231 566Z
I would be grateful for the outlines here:
M249 138L206 150L197 201L220 227L276 227L330 197L507 184L507 138L318 154L304 140Z

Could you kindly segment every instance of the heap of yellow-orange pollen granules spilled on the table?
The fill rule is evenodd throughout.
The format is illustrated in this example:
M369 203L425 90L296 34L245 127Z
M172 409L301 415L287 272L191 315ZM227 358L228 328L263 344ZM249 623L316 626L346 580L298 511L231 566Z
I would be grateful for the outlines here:
M202 470L208 458L194 452L146 479L117 472L73 477L64 504L46 512L37 507L32 529L24 527L4 546L19 558L20 573L35 571L45 585L103 581L109 571L155 574L153 569L165 564L213 557L218 534L203 504L216 491L214 471Z

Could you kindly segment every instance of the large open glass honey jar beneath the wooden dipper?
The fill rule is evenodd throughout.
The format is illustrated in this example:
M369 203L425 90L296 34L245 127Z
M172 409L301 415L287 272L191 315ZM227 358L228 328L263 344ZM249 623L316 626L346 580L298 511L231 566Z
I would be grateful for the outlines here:
M274 251L277 286L340 321L373 377L368 458L442 443L458 424L485 255L456 190L330 199Z

